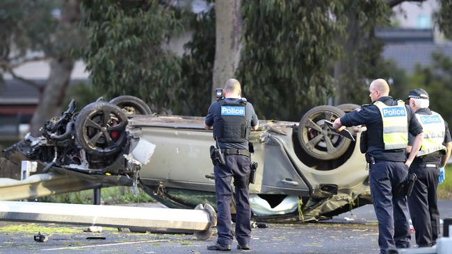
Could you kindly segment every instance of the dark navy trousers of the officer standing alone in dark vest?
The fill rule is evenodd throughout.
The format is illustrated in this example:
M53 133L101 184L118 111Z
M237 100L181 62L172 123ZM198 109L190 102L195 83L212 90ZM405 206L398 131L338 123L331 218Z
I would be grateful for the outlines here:
M249 244L251 236L251 209L248 175L251 159L245 155L226 155L226 165L215 166L218 244L232 244L231 180L234 178L236 203L236 239L240 245Z

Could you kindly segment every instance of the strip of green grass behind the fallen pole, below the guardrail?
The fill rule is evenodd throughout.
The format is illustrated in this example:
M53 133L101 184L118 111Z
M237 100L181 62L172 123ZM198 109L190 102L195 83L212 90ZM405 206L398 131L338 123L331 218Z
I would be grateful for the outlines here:
M75 204L92 204L93 191L87 189L81 192L72 192L66 194L56 194L38 198L41 202L51 203L75 203ZM124 203L143 203L155 202L154 198L147 195L142 189L138 188L138 194L134 196L131 187L117 186L101 189L101 203L108 204L124 204Z

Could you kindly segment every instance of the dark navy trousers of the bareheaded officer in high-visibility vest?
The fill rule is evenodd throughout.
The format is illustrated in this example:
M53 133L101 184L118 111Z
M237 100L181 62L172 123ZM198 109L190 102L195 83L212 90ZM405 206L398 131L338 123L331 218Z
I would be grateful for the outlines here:
M386 253L389 248L410 248L407 199L392 194L407 174L408 167L403 162L380 160L370 167L369 183L378 219L380 253Z

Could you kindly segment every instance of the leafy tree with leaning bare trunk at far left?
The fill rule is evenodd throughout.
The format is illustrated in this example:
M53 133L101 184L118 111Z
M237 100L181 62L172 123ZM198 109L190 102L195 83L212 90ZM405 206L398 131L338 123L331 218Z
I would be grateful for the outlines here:
M74 65L71 51L83 41L77 28L79 3L80 0L0 2L0 9L6 10L0 13L0 74L9 73L40 91L40 103L31 120L33 135L40 133L39 128L47 119L58 115L63 102ZM51 71L45 85L15 74L16 67L36 60L50 60Z

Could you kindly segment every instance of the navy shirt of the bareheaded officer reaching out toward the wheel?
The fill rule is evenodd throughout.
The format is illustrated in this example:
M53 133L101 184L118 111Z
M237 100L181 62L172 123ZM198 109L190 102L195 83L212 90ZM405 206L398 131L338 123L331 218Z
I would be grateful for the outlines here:
M378 101L385 103L385 105L397 105L397 101L392 99L391 96L383 96L378 99ZM417 118L410 106L405 105L405 108L407 109L408 132L413 136L417 136L419 133L422 133L422 126L419 124L419 121L417 121ZM368 130L380 130L381 134L380 137L378 137L380 139L380 144L373 146L369 145L367 153L373 155L376 160L405 162L406 149L385 150L382 135L383 121L380 115L380 110L376 105L364 105L362 108L348 112L344 115L344 117L341 117L341 124L347 127L365 124ZM375 135L375 133L368 133L367 135Z

